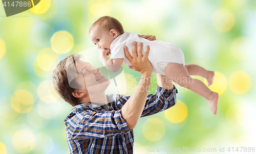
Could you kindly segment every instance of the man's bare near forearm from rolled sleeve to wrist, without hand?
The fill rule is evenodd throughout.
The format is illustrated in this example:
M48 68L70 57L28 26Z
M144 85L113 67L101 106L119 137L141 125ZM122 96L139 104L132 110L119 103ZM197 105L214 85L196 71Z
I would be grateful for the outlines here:
M152 72L144 72L141 77L150 79L151 74ZM133 95L121 109L121 115L125 119L129 129L134 129L145 106L150 82L143 78L140 79Z

